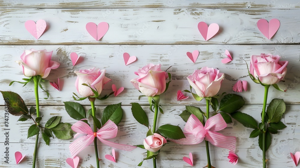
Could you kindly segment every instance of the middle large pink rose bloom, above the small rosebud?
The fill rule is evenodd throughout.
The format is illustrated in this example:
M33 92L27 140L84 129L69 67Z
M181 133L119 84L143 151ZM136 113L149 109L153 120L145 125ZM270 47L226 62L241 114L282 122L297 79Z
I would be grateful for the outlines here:
M161 64L148 64L134 73L140 77L132 79L130 82L145 96L153 97L166 90L168 73L161 70Z

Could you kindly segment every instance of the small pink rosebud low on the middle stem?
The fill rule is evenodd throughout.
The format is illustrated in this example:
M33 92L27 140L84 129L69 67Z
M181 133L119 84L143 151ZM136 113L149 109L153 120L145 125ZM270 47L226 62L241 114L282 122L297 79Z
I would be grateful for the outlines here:
M157 152L165 143L167 143L166 138L156 133L144 139L144 147L150 152Z

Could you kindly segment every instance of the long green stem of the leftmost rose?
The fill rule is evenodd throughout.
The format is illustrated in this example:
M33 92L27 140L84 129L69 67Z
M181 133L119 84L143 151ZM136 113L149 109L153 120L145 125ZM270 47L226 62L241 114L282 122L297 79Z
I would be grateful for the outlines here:
M37 112L37 117L40 117L40 106L39 106L39 98L38 98L38 76L33 76L33 81L35 82L35 103L36 103L36 112ZM36 125L40 125L40 123L36 123ZM39 133L36 135L35 138L35 151L33 153L33 162L32 162L32 168L35 168L35 162L36 162L36 157L38 154L38 138L39 138Z

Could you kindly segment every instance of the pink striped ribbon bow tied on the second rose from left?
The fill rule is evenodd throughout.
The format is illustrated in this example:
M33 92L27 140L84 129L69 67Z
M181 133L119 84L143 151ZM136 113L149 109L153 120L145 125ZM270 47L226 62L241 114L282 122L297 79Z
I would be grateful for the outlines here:
M136 148L136 146L123 145L105 140L116 137L118 133L117 125L111 120L108 120L97 132L93 132L91 127L82 121L76 122L74 125L72 125L71 128L77 133L74 138L76 138L80 134L85 135L83 137L77 138L69 146L72 158L74 158L80 151L91 144L94 141L95 137L97 137L105 145L111 146L113 148L122 149L125 151L132 151Z

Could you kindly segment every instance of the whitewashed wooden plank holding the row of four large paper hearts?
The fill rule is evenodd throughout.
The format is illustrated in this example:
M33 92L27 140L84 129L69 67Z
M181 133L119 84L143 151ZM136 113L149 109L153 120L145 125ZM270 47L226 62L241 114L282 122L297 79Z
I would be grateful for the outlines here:
M299 44L300 9L0 9L0 45L30 44ZM260 18L281 26L271 40L256 27ZM27 20L44 19L48 30L36 40ZM138 22L137 22L138 20ZM218 23L219 33L204 41L197 24ZM88 22L108 22L100 40L85 29Z

